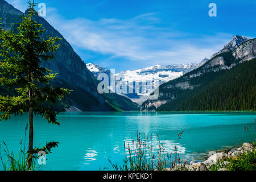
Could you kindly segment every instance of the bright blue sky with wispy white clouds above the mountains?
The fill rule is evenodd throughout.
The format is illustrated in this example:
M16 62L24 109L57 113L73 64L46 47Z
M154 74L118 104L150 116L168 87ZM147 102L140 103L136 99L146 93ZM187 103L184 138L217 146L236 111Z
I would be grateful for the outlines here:
M27 0L7 0L24 11ZM116 72L199 63L232 39L256 37L256 1L38 0L86 63ZM210 17L209 3L217 17Z

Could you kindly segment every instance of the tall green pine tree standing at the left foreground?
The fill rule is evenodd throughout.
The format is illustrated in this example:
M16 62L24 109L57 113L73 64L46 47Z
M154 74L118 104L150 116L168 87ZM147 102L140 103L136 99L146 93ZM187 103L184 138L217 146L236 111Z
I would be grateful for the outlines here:
M12 115L22 115L29 111L29 144L27 170L31 169L32 158L39 150L51 152L58 142L49 142L42 149L33 147L34 115L41 115L49 123L60 125L55 111L44 106L45 102L55 104L57 99L69 94L68 89L52 86L51 81L57 74L40 67L43 61L53 59L54 52L60 47L60 38L42 39L45 31L42 24L33 20L36 15L34 1L28 2L29 13L22 17L17 30L0 31L0 82L6 88L15 88L15 96L0 96L0 121Z

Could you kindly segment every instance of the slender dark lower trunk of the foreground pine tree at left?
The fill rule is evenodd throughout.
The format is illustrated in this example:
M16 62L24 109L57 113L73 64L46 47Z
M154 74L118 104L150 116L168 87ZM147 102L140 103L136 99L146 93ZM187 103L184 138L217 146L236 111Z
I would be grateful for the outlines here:
M27 170L31 171L32 167L32 156L33 156L33 140L34 140L34 107L33 107L33 100L32 100L32 90L29 91L30 97L30 135L29 135L29 142L28 142L28 158L27 158Z

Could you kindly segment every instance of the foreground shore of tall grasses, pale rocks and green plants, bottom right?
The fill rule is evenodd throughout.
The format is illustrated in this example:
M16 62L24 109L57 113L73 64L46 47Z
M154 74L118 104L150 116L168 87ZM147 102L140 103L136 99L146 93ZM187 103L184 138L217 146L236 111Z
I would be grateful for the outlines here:
M245 126L245 133L249 132L249 127ZM183 132L177 134L178 142ZM158 143L158 148L153 147L154 142ZM241 143L238 147L221 152L210 151L206 160L201 162L192 160L188 163L187 160L181 160L177 146L174 153L165 152L158 135L154 138L143 133L142 137L137 132L137 140L124 143L124 151L125 159L122 166L109 160L114 171L256 171L255 142Z

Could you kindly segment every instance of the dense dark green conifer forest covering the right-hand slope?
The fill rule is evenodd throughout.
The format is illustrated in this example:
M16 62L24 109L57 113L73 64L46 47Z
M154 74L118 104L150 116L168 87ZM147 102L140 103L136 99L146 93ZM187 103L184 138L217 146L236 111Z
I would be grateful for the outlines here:
M228 55L228 53L227 53ZM231 63L231 62L230 62ZM158 110L256 110L256 59L191 78L191 89L162 89L175 99Z

